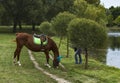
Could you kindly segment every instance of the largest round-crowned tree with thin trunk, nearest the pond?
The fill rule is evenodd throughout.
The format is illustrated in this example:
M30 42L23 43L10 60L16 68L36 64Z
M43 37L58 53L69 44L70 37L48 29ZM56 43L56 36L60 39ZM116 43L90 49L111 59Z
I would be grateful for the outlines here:
M107 40L106 28L95 21L77 18L70 22L68 33L71 44L85 50L85 68L87 68L88 50L104 47Z

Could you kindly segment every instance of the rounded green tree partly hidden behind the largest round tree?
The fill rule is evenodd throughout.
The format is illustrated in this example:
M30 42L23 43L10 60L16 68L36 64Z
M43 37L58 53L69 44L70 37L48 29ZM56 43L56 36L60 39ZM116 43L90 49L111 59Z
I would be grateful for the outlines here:
M69 38L67 34L67 28L69 22L76 18L74 14L71 14L69 12L63 12L59 13L53 20L51 21L53 25L53 31L55 32L56 35L60 36L60 43L59 47L61 45L61 40L63 37L67 36L67 57L68 57L68 47L69 47Z

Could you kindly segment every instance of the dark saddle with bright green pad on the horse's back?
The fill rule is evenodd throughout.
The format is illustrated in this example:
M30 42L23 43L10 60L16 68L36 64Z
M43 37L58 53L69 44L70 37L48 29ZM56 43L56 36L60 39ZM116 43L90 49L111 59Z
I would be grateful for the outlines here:
M41 45L41 46L45 46L48 43L47 36L44 34L37 35L34 33L33 34L33 41L35 44Z

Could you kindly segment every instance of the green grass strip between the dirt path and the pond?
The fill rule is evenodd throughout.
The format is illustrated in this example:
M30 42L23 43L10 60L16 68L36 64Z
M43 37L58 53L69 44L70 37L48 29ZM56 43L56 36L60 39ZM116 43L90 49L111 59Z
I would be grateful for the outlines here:
M58 38L53 38L58 41ZM59 69L48 69L44 66L45 56L43 53L34 53L37 62L46 70L60 77L63 77L73 83L119 83L120 70L108 67L105 64L100 63L92 58L89 59L89 67L87 70L84 69L84 60L80 65L74 64L74 52L70 49L69 58L66 58L66 45L63 44L60 48L60 53L64 57L61 61L64 64L66 70ZM56 42L58 43L58 42ZM84 59L84 55L82 56ZM52 61L50 61L52 65Z

